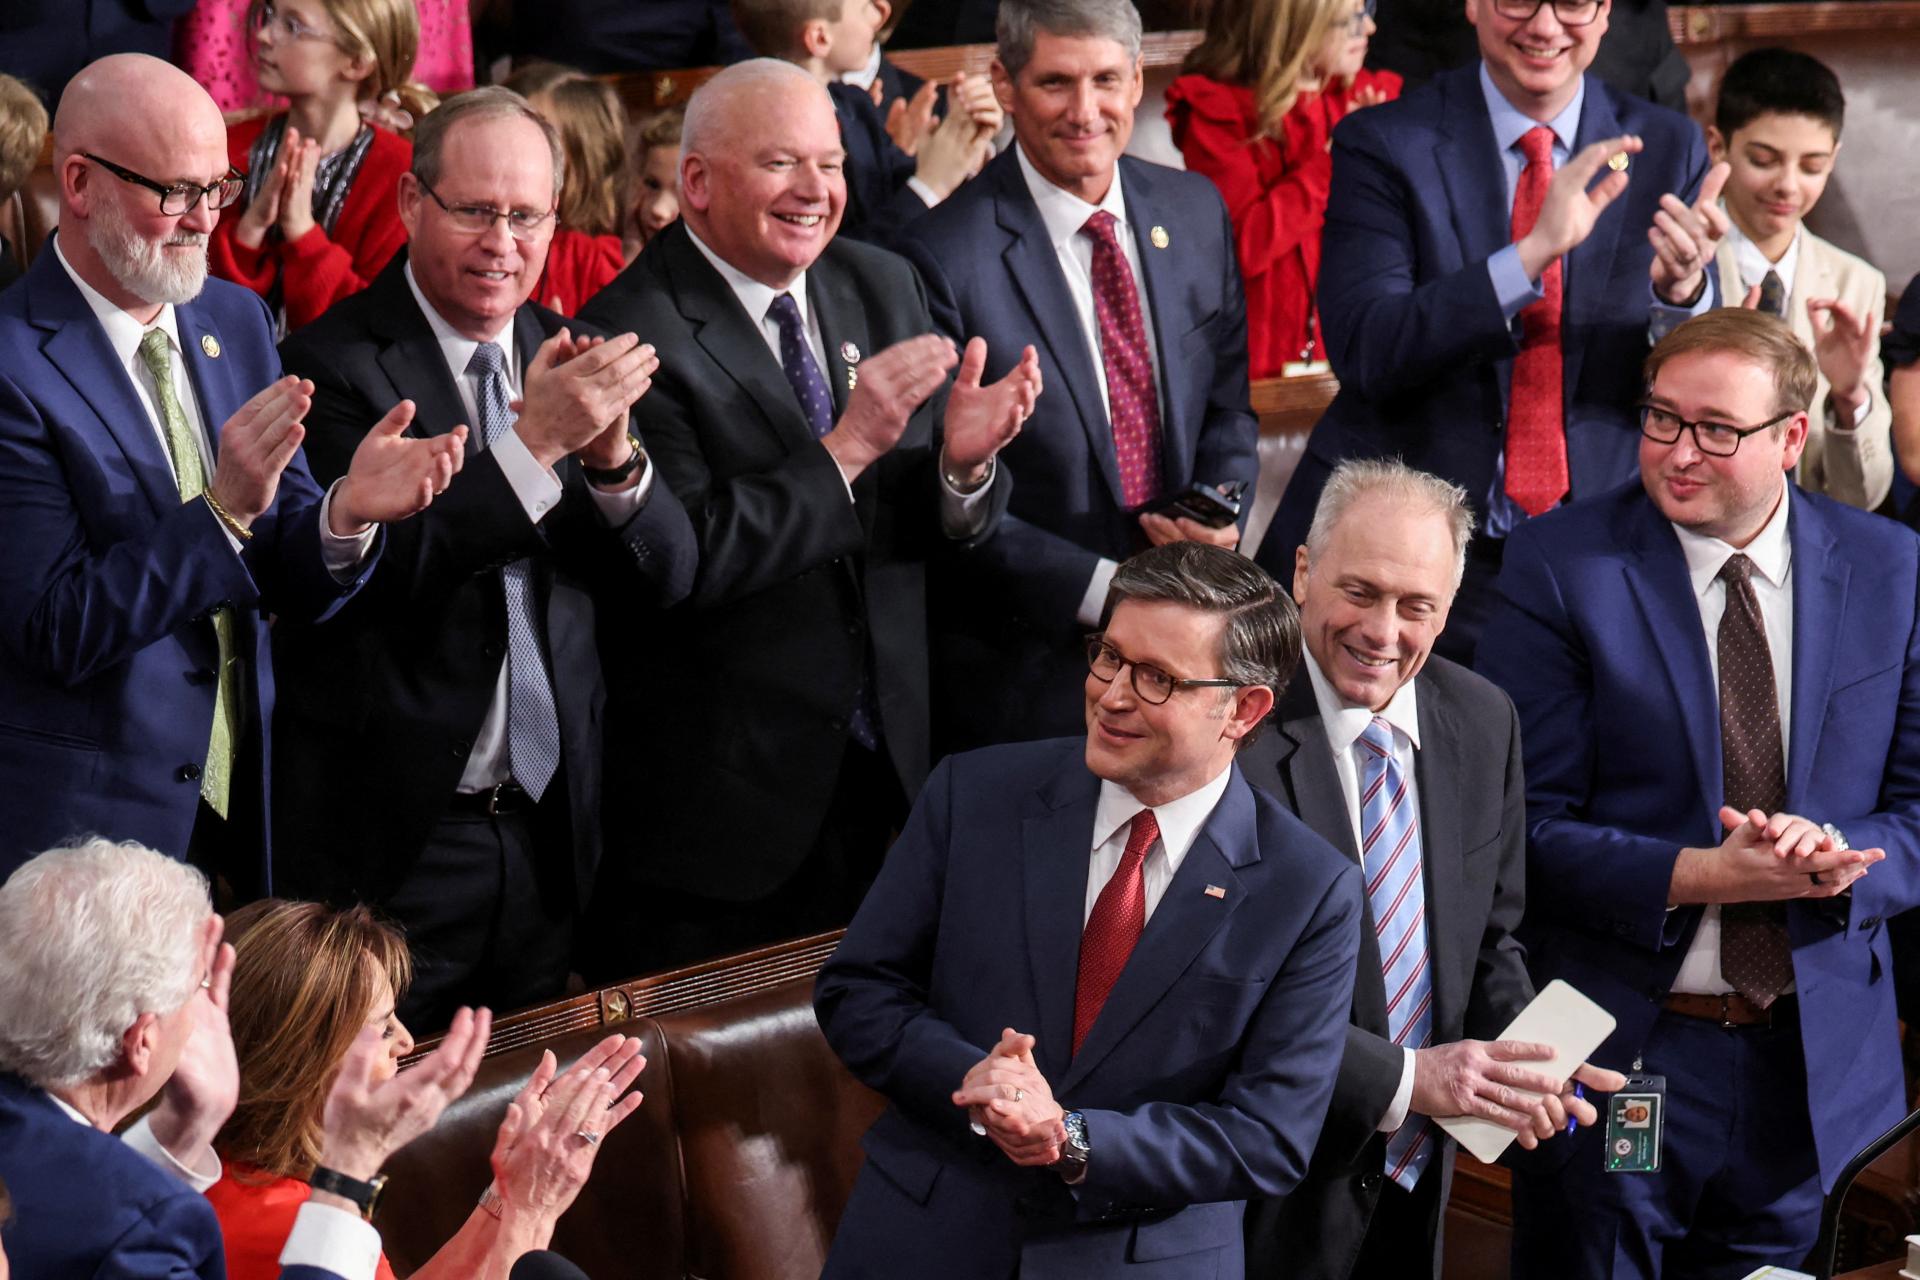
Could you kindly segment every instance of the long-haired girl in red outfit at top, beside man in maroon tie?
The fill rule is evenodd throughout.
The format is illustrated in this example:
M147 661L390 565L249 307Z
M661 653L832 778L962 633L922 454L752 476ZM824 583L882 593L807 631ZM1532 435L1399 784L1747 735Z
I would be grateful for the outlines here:
M1167 86L1187 167L1227 200L1246 276L1254 378L1325 359L1313 315L1332 127L1400 94L1363 71L1375 0L1215 0L1206 38Z

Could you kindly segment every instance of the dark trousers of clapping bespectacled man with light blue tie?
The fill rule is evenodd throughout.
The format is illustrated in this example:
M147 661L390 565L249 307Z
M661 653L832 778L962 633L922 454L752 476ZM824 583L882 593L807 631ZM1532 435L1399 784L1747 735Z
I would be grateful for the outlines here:
M413 950L399 1019L415 1036L444 1031L463 1004L509 1013L564 994L574 940L564 808L564 771L528 810L455 806L380 904Z

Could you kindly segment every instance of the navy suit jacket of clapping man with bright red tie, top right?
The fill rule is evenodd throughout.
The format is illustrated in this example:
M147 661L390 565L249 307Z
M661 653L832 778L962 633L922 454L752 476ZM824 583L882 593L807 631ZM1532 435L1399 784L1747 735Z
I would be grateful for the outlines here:
M1647 228L1661 196L1692 200L1709 163L1693 121L1590 75L1574 150L1617 134L1640 134L1645 150L1632 157L1626 192L1563 263L1574 499L1634 474L1653 303ZM1501 315L1486 271L1513 240L1505 192L1478 61L1356 111L1334 130L1319 315L1340 393L1313 426L1260 549L1281 581L1292 581L1294 547L1342 459L1400 457L1465 486L1484 507L1521 349L1521 320Z

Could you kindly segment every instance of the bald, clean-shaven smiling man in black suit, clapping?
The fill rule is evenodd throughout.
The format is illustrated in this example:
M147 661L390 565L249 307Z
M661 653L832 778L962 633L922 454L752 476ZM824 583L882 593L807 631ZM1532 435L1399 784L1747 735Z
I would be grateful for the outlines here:
M626 971L852 915L927 775L925 564L993 532L1041 393L1031 349L981 386L912 267L835 238L839 125L799 67L716 75L680 155L682 223L582 313L659 349L634 416L701 549L609 672L609 791L649 818L601 877Z

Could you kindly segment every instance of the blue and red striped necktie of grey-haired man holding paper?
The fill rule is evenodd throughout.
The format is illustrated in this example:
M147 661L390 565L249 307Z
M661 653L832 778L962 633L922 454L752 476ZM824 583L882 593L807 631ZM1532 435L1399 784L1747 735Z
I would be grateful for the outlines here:
M1434 1038L1434 988L1427 965L1421 821L1394 758L1394 727L1375 716L1359 745L1367 748L1359 777L1359 856L1386 981L1386 1034L1402 1048L1423 1050ZM1432 1159L1430 1132L1427 1117L1407 1115L1386 1140L1386 1176L1409 1192Z

